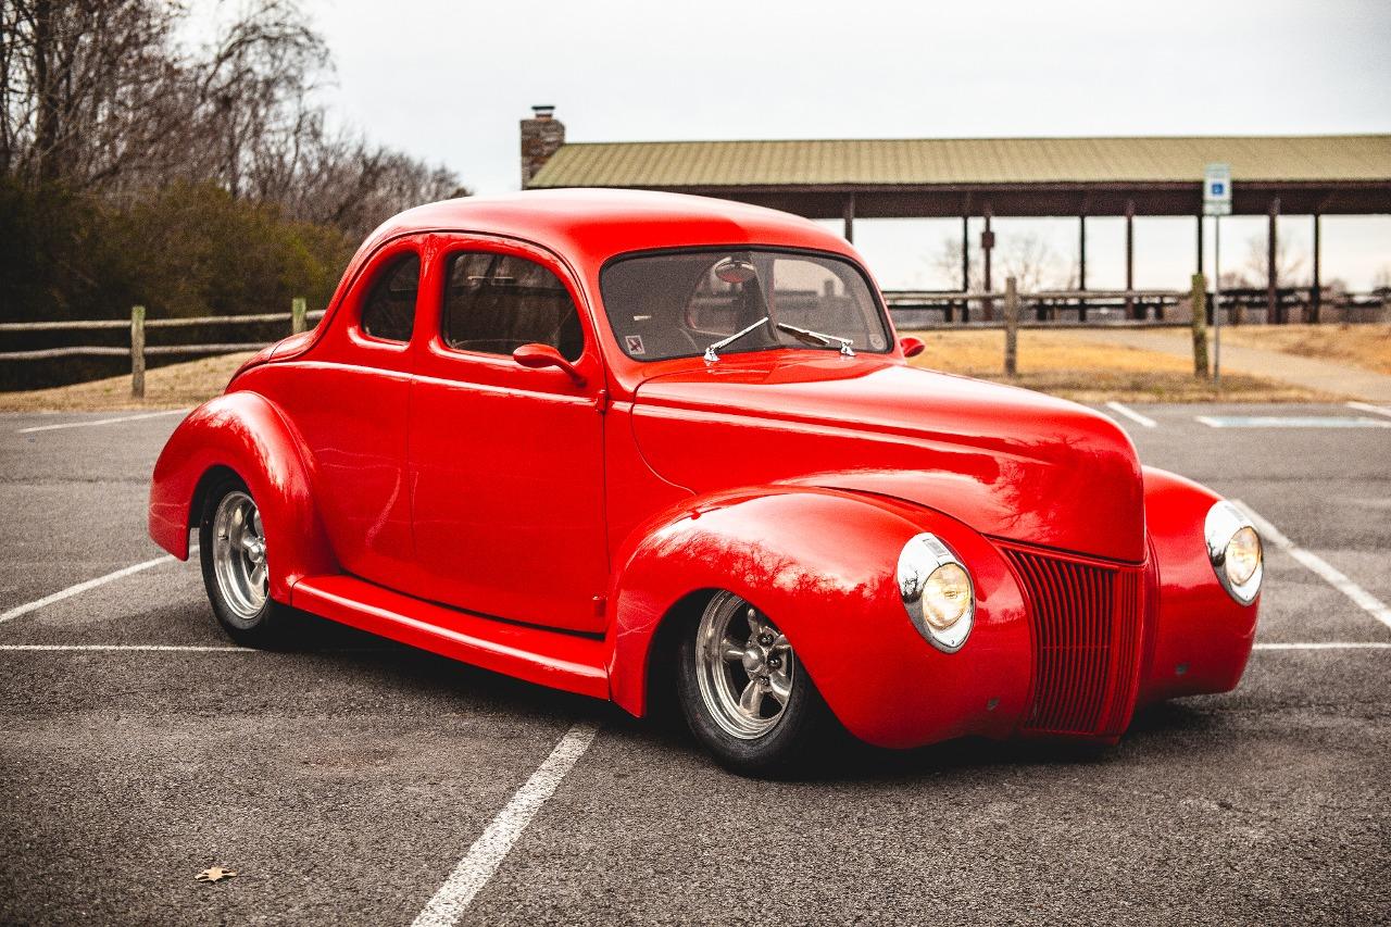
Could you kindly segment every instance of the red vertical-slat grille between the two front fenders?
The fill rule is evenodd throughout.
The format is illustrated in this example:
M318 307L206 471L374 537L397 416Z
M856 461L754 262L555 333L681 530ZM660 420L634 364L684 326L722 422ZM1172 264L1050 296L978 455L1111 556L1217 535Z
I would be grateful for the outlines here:
M1002 550L1024 582L1034 632L1024 731L1120 734L1135 699L1142 569Z

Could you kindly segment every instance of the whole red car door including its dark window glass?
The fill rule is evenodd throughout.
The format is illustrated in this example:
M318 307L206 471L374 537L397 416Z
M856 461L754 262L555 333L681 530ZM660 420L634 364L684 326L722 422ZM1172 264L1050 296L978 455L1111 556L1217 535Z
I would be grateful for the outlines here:
M415 593L601 631L604 369L579 288L542 249L440 241L409 404ZM512 352L526 344L555 348L576 376L522 366Z

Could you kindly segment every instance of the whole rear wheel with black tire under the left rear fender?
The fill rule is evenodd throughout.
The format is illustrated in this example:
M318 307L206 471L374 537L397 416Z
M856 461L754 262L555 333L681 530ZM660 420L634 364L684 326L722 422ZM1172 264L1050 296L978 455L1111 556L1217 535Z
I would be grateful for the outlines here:
M245 483L227 476L209 487L198 540L203 586L223 631L248 647L280 642L289 610L270 597L266 529Z

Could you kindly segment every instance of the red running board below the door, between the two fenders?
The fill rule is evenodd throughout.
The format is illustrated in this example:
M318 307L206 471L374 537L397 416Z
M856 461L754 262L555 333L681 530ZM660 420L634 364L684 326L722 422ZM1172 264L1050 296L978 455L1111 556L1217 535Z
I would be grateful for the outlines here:
M289 604L381 637L527 682L608 699L602 640L483 618L353 576L306 576Z

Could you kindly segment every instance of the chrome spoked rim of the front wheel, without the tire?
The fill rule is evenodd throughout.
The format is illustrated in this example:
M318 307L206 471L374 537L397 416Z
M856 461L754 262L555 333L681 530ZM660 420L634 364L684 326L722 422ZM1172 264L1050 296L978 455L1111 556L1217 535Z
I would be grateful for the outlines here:
M696 679L715 724L741 740L768 734L791 697L796 657L768 617L719 593L696 629Z

